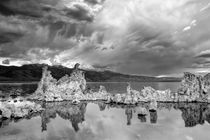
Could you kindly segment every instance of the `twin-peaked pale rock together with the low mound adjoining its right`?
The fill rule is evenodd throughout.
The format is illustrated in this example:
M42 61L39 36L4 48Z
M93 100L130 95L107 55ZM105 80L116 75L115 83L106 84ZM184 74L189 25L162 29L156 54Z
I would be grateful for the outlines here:
M78 103L81 100L107 100L110 94L104 86L100 86L98 92L89 92L86 89L84 72L78 69L76 64L71 75L65 75L59 80L52 77L47 67L43 69L42 79L35 93L29 99L44 101L71 100Z

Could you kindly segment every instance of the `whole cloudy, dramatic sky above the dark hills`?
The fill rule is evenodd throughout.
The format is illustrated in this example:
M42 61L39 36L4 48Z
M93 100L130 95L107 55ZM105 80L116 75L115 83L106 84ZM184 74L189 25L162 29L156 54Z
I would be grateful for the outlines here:
M0 64L210 72L210 0L0 0Z

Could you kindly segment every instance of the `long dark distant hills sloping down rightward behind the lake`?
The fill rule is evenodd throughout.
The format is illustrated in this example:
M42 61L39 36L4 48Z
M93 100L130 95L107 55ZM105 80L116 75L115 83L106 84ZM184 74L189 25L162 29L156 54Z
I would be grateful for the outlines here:
M21 67L17 66L2 66L0 65L0 81L1 82L26 82L39 81L42 75L42 68L45 64L29 64ZM71 74L72 69L63 66L48 66L52 76L56 79L61 78L66 74ZM94 71L84 70L85 77L88 82L175 82L180 81L180 78L174 77L150 77L139 75L127 75L112 71Z

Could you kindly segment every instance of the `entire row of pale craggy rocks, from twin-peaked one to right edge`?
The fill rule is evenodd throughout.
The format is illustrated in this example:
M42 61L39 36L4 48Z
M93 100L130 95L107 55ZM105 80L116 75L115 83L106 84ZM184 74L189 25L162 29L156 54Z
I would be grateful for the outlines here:
M104 86L100 86L98 92L86 89L84 72L79 70L79 64L74 66L70 76L66 75L59 80L52 77L50 71L43 69L42 79L38 88L30 99L44 101L71 100L79 103L81 100L105 100L106 103L135 105L139 102L193 102L210 101L210 74L199 76L191 73L184 73L181 87L177 93L169 89L155 90L152 87L144 87L141 91L127 86L125 94L110 94ZM209 98L209 99L208 99Z

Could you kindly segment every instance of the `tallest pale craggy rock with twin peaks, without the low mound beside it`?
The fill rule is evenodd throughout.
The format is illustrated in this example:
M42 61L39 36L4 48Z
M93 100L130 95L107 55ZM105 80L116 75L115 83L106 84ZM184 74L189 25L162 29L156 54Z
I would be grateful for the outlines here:
M65 75L59 80L52 77L47 67L43 68L42 79L31 99L45 101L63 101L81 98L86 89L84 72L76 64L70 76Z

